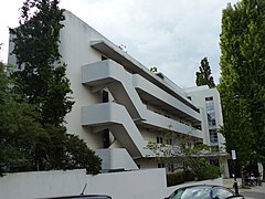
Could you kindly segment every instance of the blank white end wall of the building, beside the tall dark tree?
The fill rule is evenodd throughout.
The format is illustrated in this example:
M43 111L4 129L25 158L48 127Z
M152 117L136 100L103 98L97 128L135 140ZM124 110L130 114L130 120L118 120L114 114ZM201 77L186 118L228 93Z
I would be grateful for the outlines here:
M102 55L91 48L92 39L102 39L103 36L87 25L85 22L73 15L68 11L64 12L64 28L60 32L60 51L63 62L67 64L66 75L70 78L71 88L75 104L72 112L66 115L67 133L78 135L84 139L89 148L102 147L102 137L93 134L89 128L83 128L81 125L81 107L98 103L102 96L98 93L91 93L87 87L82 85L82 65L94 63L102 60Z

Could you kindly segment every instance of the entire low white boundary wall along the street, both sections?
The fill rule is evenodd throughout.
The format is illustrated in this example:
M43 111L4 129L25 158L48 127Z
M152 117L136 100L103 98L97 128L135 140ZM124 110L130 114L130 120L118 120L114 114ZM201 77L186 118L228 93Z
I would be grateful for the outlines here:
M31 199L105 193L113 199L161 199L167 196L165 169L89 176L85 170L17 172L0 177L0 199Z

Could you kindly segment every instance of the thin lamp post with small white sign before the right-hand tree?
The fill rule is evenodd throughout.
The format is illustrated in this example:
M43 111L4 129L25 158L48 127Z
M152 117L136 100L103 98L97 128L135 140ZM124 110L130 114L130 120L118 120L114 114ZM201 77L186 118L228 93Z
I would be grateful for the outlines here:
M235 189L235 193L239 195L239 186L237 186L237 181L236 181L236 153L235 153L235 143L234 139L232 139L232 133L231 133L231 123L230 123L230 102L232 100L235 98L241 98L241 95L234 95L232 97L229 98L227 101L227 124L229 124L229 133L230 133L230 144L232 144L231 147L231 156L232 156L232 160L233 160L233 174L232 176L234 177L234 189Z

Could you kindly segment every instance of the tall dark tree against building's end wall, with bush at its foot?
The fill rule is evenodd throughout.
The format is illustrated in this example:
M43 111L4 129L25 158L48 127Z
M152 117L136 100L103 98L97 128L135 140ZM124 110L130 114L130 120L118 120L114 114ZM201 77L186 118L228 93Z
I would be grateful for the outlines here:
M86 168L97 174L100 159L77 136L66 134L64 117L72 101L66 64L59 52L64 20L57 0L25 0L20 27L10 29L18 69L12 73L13 90L39 117L34 119L45 134L35 138L38 147L29 154L35 170ZM32 134L35 132L33 130ZM75 143L76 145L70 144ZM35 145L33 143L33 145ZM31 145L30 145L31 146Z

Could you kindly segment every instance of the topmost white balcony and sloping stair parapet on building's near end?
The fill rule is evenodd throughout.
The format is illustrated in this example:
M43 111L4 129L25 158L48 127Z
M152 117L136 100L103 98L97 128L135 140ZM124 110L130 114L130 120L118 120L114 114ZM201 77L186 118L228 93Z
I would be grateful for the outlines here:
M145 119L145 107L132 84L132 75L114 61L105 60L82 66L82 83L97 88L104 85L126 108L134 121Z

